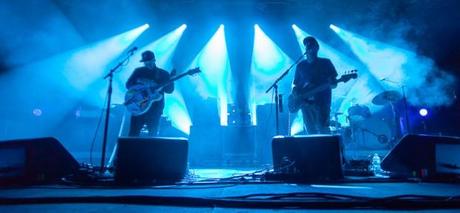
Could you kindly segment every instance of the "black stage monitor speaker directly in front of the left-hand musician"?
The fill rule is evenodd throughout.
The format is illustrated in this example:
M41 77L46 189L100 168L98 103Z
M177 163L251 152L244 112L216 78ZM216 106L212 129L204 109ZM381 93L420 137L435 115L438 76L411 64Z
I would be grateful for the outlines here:
M187 172L188 141L185 138L118 139L115 180L119 183L173 182Z

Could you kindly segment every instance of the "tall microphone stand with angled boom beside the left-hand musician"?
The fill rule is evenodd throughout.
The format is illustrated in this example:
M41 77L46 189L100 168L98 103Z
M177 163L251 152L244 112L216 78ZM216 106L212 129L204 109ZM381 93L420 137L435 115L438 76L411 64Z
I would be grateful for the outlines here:
M120 63L118 63L114 68L112 68L107 75L104 76L104 79L109 79L109 86L107 89L107 108L105 111L105 124L104 124L104 137L102 139L102 156L101 156L101 168L99 170L100 174L104 173L105 170L105 149L107 146L107 133L109 130L109 118L110 118L110 104L112 101L112 82L113 82L113 73L120 68L129 58L134 54L134 51L129 51L126 58L124 58Z

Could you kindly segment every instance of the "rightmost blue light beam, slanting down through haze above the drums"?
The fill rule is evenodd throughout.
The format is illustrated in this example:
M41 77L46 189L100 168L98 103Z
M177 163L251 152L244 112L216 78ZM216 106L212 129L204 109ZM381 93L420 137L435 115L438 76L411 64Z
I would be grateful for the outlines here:
M417 55L415 51L366 38L344 29L340 29L337 35L366 65L371 74L369 85L376 88L372 91L400 91L404 86L407 93L414 94L408 96L411 104L440 106L452 103L452 98L445 88L455 85L454 77L437 68L432 59ZM410 44L404 44L400 40L398 43L410 47Z

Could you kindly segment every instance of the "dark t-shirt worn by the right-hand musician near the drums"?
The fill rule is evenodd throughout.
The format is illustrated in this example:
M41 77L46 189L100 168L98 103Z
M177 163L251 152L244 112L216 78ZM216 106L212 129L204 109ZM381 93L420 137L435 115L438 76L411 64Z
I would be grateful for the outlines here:
M310 87L315 87L330 80L335 80L337 71L332 65L332 62L326 58L318 58L313 63L308 63L306 60L297 65L294 77L294 86L297 89L303 88L306 83ZM319 104L330 104L332 90L326 89L314 95L314 100Z

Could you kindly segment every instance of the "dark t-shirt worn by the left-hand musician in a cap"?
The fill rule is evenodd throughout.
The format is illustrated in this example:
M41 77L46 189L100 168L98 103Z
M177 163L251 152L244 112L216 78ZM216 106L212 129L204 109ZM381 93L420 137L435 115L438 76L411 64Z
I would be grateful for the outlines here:
M157 84L163 84L168 82L170 76L166 70L160 69L155 67L154 69L150 69L148 67L139 67L136 68L129 77L128 81L126 82L126 88L129 89L133 85L138 83L142 83L143 80L153 80ZM168 84L168 86L164 87L163 90L160 91L161 94L164 93L172 93L174 91L174 84ZM155 106L152 106L150 109L158 109L160 108L163 110L164 107L164 98L161 101L157 101L154 103Z

